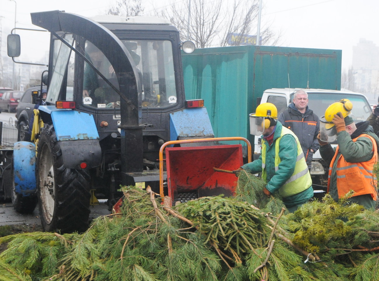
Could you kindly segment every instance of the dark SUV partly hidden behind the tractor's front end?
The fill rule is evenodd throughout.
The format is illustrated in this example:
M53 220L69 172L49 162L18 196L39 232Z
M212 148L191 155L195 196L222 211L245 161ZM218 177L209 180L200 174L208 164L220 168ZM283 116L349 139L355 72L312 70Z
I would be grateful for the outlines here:
M19 133L28 131L29 120L33 115L34 104L31 99L32 91L41 92L41 86L34 86L27 89L16 108L17 128ZM44 91L46 91L46 86L42 88L42 92Z

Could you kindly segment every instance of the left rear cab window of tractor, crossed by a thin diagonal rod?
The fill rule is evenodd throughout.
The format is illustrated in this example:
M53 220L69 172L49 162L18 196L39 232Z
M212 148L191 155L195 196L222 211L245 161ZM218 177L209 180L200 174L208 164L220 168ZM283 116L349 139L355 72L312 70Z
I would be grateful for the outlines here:
M92 66L85 62L83 75L83 104L96 108L115 108L120 105L120 96L96 72L98 70L106 80L119 89L116 73L105 55L91 42L85 45L85 56ZM94 69L96 68L96 70Z

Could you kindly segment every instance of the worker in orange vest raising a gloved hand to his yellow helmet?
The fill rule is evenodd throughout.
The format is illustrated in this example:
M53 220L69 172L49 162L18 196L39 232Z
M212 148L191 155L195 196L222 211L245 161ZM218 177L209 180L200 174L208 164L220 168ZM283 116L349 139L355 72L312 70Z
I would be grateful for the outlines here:
M330 105L320 120L317 138L321 157L329 165L327 192L338 201L354 190L349 201L374 209L377 180L373 165L378 158L379 138L368 121L355 124L351 110L351 101L343 99ZM335 148L330 145L332 139L337 140Z

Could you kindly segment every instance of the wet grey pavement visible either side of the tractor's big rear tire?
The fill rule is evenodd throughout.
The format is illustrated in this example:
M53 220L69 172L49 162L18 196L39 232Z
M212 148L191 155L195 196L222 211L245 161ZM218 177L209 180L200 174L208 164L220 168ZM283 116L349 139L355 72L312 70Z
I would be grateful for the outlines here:
M89 219L95 219L100 215L108 215L108 206L105 205L104 200L100 200L99 205L91 206L91 214ZM23 215L14 211L12 203L0 204L0 226L2 225L36 225L41 226L39 219L38 207L34 210L33 214Z

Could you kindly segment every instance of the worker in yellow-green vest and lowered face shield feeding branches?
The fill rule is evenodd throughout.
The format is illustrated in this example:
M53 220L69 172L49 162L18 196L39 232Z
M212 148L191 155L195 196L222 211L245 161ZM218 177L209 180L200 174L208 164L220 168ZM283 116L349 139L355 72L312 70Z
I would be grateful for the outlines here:
M312 180L298 138L277 117L272 103L262 103L255 113L249 114L250 133L262 135L262 153L235 172L262 172L267 182L263 192L270 196L278 191L288 211L294 212L313 197Z

